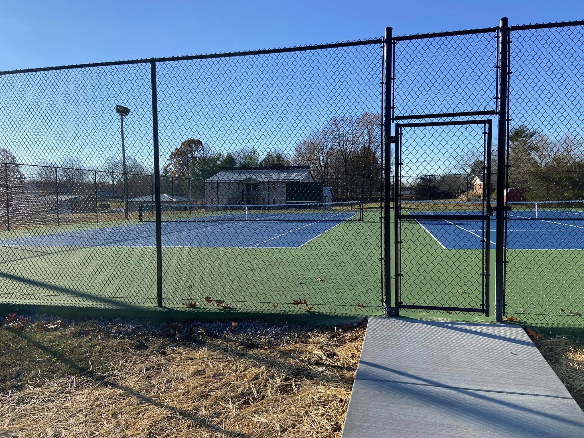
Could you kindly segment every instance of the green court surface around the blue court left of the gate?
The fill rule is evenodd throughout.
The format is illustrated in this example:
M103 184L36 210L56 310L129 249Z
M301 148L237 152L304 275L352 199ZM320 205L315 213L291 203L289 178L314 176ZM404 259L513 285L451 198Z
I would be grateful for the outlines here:
M0 238L126 224L31 228ZM3 303L127 309L157 304L154 246L3 245L0 264ZM232 306L229 311L380 314L379 213L367 211L364 221L342 222L298 248L163 246L162 278L164 306L192 312L221 311L215 303L220 300ZM294 300L305 300L305 309ZM187 309L191 301L199 306Z

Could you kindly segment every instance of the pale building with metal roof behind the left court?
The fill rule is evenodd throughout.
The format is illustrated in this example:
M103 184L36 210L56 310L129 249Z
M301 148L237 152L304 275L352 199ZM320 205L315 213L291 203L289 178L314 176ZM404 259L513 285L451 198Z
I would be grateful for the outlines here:
M309 166L224 168L205 180L206 203L285 204L286 183L314 182Z

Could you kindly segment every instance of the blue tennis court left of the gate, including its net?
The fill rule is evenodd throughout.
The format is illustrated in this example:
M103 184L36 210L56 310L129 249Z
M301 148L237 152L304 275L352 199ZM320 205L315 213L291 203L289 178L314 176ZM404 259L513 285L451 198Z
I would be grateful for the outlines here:
M162 246L298 248L343 221L362 219L360 203L292 206L165 206ZM155 246L154 217L121 227L4 239L4 246Z

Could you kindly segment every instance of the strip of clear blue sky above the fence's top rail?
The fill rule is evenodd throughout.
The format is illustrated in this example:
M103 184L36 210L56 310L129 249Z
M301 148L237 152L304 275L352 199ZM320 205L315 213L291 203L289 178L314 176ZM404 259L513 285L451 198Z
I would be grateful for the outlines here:
M584 18L571 1L0 0L0 69Z

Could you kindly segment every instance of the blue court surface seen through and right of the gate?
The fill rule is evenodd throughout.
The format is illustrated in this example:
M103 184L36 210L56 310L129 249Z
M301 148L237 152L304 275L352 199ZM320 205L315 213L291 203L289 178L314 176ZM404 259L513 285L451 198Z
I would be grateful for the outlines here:
M452 211L443 214L446 213L453 214ZM418 224L444 249L482 248L482 221L440 220L440 212L426 214L435 214L436 220L419 220ZM582 212L580 215L584 216ZM536 218L534 211L513 212L507 221L507 249L584 249L584 217L580 215L546 211ZM491 248L495 248L494 216L485 235Z

